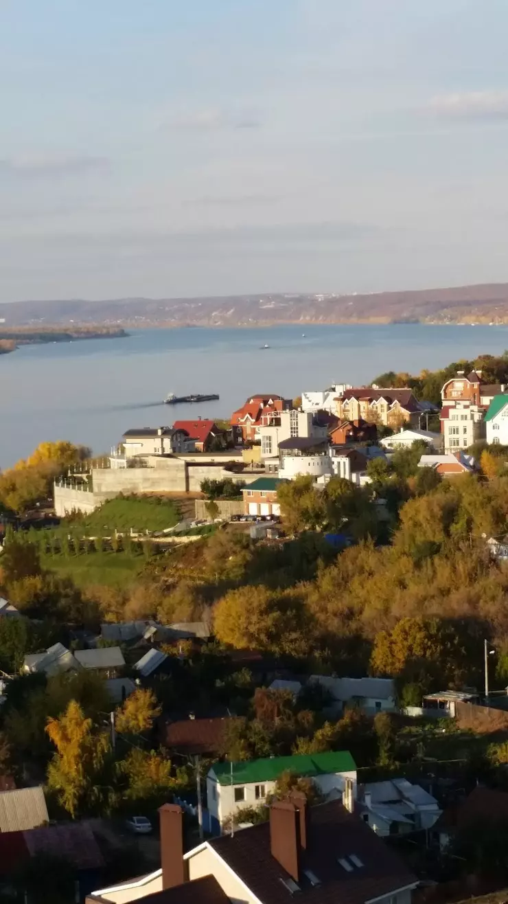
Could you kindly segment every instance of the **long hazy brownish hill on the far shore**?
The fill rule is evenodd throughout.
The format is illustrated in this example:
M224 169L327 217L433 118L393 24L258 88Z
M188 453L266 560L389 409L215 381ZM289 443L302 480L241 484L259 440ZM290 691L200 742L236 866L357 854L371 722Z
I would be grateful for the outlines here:
M6 326L508 323L508 283L369 295L260 294L0 305Z

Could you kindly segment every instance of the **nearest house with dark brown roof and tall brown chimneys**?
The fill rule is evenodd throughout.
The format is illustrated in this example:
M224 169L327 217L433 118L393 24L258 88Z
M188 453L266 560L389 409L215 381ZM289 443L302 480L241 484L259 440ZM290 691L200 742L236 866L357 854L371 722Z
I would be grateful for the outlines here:
M165 804L159 814L161 868L94 891L87 904L284 904L296 896L312 904L411 904L418 884L399 855L339 801L309 807L293 793L270 807L268 822L185 854L181 807Z

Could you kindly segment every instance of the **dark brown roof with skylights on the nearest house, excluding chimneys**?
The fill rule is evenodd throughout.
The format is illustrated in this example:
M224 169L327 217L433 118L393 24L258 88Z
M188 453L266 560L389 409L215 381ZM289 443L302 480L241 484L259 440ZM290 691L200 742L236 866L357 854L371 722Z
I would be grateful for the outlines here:
M338 801L310 808L309 828L311 843L301 852L302 900L310 904L364 904L416 885L417 879L400 857ZM290 901L291 895L282 885L287 872L270 852L268 823L254 825L234 837L214 838L208 845L263 904ZM362 865L356 867L350 862L347 871L339 858L352 855ZM311 883L306 870L314 873L319 884Z

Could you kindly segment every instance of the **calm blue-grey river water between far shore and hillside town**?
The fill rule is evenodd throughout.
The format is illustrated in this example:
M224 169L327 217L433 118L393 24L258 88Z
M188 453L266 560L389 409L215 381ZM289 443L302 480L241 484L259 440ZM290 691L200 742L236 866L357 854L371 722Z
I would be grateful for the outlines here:
M270 348L261 351L265 343ZM25 346L0 356L0 467L42 440L71 439L100 453L127 428L229 417L253 392L294 397L505 348L508 326L412 324L144 330L127 339ZM162 404L170 391L218 392L221 400L170 408Z

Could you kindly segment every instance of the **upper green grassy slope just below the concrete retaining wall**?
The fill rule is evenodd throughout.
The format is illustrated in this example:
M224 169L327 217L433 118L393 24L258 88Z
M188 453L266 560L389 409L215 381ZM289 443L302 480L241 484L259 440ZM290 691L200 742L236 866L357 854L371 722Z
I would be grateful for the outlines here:
M180 520L178 507L171 499L154 496L118 496L92 512L82 521L65 519L61 526L83 535L105 536L111 531L164 531Z

